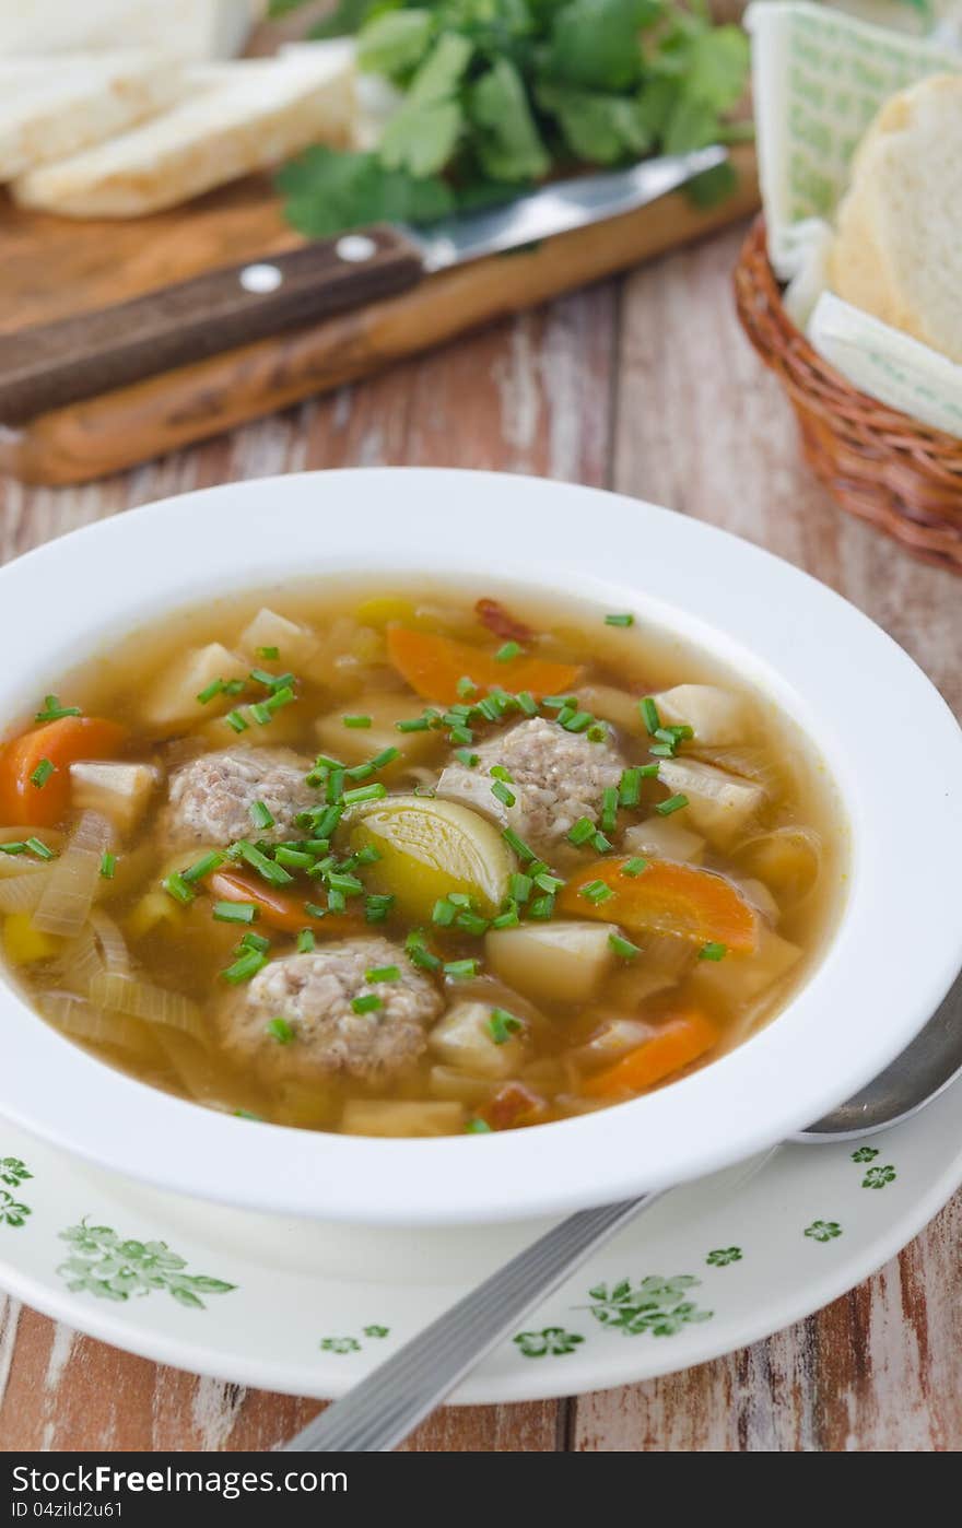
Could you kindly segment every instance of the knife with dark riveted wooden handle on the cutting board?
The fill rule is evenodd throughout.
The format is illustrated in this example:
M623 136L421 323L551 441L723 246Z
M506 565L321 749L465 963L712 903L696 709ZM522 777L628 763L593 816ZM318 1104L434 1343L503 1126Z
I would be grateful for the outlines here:
M378 225L128 303L0 335L0 422L18 425L174 367L396 296L450 266L632 212L722 163L720 147L557 180L427 228Z

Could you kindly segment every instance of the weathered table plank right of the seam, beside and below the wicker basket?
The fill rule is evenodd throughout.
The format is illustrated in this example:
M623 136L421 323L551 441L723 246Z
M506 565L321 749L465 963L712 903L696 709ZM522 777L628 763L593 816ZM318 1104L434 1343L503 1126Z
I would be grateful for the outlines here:
M843 515L730 299L740 232L626 283L613 486L746 536L838 588L962 709L959 584ZM962 1196L875 1279L766 1343L578 1403L586 1450L957 1450Z

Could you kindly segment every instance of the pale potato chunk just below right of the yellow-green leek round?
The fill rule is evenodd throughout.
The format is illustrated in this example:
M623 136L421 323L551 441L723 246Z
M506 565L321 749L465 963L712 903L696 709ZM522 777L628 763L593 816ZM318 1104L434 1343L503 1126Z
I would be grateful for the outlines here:
M509 987L535 1002L587 1002L615 964L613 923L557 918L485 935L488 960Z

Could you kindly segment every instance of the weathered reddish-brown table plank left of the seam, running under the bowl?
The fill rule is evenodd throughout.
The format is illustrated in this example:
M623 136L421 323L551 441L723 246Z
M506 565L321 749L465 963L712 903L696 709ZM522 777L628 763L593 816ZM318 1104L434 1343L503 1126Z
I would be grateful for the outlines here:
M167 494L321 466L457 465L603 483L615 322L615 289L595 287L124 477L29 490L3 480L0 559ZM266 1450L317 1410L159 1368L0 1303L2 1449ZM407 1447L552 1452L566 1432L564 1403L457 1407Z

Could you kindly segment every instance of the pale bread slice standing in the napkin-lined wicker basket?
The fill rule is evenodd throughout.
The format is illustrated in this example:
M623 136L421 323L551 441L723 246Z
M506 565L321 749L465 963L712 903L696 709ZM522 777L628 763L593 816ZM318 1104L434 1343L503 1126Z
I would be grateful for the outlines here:
M852 162L832 290L962 362L962 73L892 96Z

